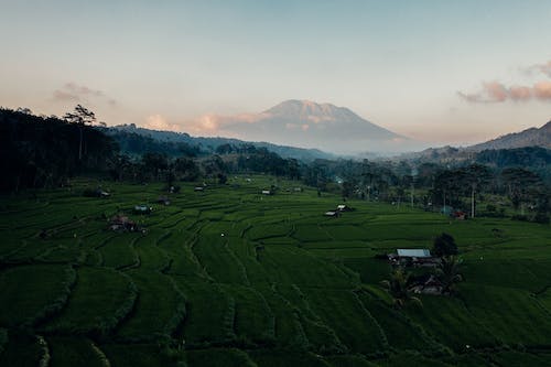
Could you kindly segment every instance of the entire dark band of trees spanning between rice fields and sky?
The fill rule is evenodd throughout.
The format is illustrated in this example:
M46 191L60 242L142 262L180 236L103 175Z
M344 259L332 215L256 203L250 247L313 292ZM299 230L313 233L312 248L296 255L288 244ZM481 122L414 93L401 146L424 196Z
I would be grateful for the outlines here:
M471 160L445 163L317 159L306 164L249 143L225 143L206 153L198 145L133 132L107 136L94 122L94 114L82 106L64 119L0 110L0 188L52 187L90 173L169 186L205 179L224 184L229 174L267 173L302 180L320 193L344 198L408 202L431 211L453 207L471 216L503 215L498 203L478 207L485 195L497 195L520 211L519 218L549 220L550 151L542 148L484 151Z

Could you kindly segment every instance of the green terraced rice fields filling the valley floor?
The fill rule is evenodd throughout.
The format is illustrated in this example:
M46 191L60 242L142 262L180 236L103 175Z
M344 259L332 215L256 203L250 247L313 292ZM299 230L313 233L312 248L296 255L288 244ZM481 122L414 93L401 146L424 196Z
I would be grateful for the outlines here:
M0 366L551 366L549 225L354 199L331 217L341 197L271 176L197 185L3 196ZM442 233L457 292L396 307L380 255Z

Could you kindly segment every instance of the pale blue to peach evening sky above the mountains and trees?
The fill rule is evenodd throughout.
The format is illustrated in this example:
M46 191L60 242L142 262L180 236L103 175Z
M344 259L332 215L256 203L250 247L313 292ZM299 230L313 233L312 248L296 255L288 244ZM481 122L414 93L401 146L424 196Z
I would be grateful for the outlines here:
M216 136L209 117L306 99L467 144L551 119L550 19L549 0L0 0L0 106Z

